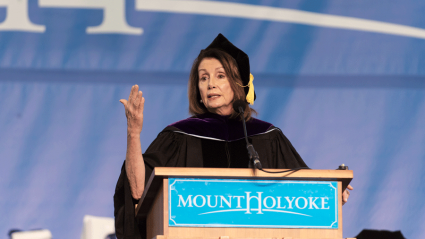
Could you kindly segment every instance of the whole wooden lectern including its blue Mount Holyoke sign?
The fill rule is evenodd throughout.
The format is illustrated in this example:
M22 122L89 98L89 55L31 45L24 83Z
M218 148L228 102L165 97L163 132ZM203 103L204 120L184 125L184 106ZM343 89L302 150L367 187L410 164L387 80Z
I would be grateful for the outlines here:
M351 170L154 169L136 207L147 239L342 239Z

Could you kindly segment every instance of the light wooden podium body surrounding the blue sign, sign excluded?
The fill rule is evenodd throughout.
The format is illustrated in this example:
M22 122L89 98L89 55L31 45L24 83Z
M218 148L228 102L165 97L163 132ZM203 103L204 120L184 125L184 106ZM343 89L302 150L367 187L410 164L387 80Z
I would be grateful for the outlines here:
M282 171L283 169L268 169ZM332 181L337 184L337 217L335 229L322 228L246 228L246 227L172 227L169 225L169 178L250 179ZM136 217L146 220L147 239L202 239L202 238L317 238L342 239L342 192L353 178L351 170L302 169L285 173L265 173L252 169L231 168L165 168L154 169L146 189L136 205ZM260 203L261 200L258 200ZM205 200L204 200L205 204Z

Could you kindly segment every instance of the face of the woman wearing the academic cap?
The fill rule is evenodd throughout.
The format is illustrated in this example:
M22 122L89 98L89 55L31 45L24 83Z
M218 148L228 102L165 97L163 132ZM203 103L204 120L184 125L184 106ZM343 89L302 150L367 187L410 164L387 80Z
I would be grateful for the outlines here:
M199 92L209 112L230 115L233 110L233 90L220 61L204 58L198 67Z

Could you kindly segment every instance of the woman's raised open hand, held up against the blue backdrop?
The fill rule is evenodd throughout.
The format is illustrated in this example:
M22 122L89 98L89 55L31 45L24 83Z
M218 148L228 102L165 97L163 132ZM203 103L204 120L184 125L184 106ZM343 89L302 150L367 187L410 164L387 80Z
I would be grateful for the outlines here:
M128 101L121 99L120 102L125 107L128 133L140 134L143 128L143 109L145 106L145 98L143 98L143 93L139 91L139 86L133 85L131 87Z

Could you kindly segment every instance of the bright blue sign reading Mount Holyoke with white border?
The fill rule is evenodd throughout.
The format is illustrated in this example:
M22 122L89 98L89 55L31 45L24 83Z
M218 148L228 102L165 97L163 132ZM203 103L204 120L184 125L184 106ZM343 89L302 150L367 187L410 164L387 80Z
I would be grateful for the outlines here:
M169 226L338 228L337 182L169 178Z

